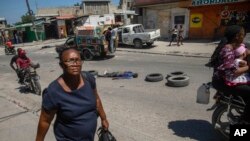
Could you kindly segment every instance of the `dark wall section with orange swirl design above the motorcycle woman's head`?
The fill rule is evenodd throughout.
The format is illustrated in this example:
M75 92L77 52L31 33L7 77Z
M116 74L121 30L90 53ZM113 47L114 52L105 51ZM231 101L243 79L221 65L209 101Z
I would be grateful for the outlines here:
M223 10L220 14L221 25L242 25L249 24L250 11L238 11L238 10Z

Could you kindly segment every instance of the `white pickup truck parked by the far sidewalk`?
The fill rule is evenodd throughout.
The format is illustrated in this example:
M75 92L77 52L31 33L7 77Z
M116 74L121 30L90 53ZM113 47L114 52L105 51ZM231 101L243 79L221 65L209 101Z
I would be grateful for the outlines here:
M135 48L142 48L143 44L151 46L155 40L161 37L160 29L145 30L141 24L131 24L119 27L117 30L119 43L134 45Z

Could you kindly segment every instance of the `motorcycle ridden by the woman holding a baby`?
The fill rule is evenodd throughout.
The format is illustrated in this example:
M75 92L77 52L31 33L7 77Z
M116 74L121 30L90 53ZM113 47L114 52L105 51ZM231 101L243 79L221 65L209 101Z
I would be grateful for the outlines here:
M205 97L207 97L207 94L210 93L210 88L212 88L213 86L211 82L209 82L203 84L203 87L205 90ZM200 97L198 95L197 102L199 101L198 97ZM244 122L240 119L240 117L243 114L246 103L244 102L242 97L232 94L227 95L222 91L217 91L214 95L214 99L215 104L208 109L208 111L214 110L212 114L212 126L222 135L222 137L228 140L230 137L230 125ZM203 100L203 102L198 103L207 104L207 100L205 101L206 102L204 102Z

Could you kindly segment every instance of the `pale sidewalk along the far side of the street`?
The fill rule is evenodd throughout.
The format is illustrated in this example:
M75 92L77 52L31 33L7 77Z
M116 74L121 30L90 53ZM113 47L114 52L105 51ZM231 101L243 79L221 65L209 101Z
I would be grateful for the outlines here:
M67 38L64 39L51 39L45 41L35 41L31 43L15 44L16 48L42 48L42 47L54 47L55 45L64 44ZM159 55L174 55L174 56L185 56L185 57L202 57L209 58L215 47L216 42L201 41L201 40L187 40L184 41L184 45L177 46L176 42L169 45L169 41L155 41L152 47L143 46L141 49L136 49L133 46L120 45L117 51L136 52L136 53L147 53L147 54L159 54Z

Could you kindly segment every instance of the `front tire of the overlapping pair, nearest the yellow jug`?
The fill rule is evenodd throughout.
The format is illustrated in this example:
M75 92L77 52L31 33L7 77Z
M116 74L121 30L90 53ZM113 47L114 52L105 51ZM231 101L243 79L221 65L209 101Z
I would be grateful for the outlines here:
M188 76L171 76L167 80L166 85L170 87L185 87L189 85Z

